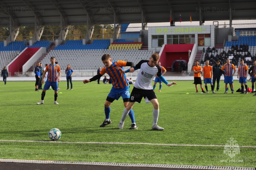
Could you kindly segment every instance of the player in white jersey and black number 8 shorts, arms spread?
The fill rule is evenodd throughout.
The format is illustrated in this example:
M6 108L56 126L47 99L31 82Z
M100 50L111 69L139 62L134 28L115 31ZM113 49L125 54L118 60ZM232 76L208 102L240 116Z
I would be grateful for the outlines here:
M153 81L155 75L157 74L158 78L162 80L167 86L176 85L175 82L167 82L161 74L161 68L157 65L160 56L157 53L153 53L149 60L141 60L134 69L140 69L140 72L137 76L137 79L134 83L132 93L130 95L129 103L124 109L121 121L119 123L119 128L124 126L124 120L128 115L129 111L132 109L135 102L140 103L142 97L147 98L154 106L153 110L153 126L152 130L164 130L157 125L158 115L159 115L159 104L151 82ZM124 73L124 71L118 68ZM129 69L128 69L129 70ZM126 70L125 72L128 72Z

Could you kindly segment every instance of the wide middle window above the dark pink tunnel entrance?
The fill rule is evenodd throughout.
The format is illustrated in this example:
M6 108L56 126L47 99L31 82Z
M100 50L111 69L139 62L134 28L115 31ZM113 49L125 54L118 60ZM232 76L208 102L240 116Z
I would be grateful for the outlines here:
M195 35L167 35L167 44L194 44Z

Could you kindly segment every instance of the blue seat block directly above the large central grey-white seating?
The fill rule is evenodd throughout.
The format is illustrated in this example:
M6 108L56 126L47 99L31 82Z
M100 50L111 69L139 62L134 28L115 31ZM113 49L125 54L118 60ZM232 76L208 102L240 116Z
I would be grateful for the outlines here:
M108 49L109 44L109 39L94 40L92 44L83 44L83 40L68 40L64 45L58 45L55 50Z

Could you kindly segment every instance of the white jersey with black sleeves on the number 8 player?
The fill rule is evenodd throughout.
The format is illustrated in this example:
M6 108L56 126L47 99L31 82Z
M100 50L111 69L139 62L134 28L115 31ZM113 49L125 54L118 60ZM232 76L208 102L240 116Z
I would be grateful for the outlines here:
M134 83L134 87L137 89L151 90L153 89L151 82L153 81L155 75L160 77L161 68L157 64L155 66L148 65L149 60L141 60L135 67L140 68L140 72Z

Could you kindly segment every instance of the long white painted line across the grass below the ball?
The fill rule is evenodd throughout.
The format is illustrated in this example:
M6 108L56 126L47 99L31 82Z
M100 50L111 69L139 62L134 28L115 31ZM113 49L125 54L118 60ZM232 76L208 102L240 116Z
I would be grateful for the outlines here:
M92 144L129 144L129 145L161 145L161 146L205 146L224 147L225 145L189 145L189 144L166 144L166 143L124 143L124 142L63 142L63 141L16 141L0 140L0 142L38 142L38 143L92 143ZM256 146L239 146L241 148L256 148Z

